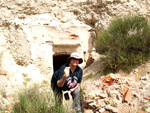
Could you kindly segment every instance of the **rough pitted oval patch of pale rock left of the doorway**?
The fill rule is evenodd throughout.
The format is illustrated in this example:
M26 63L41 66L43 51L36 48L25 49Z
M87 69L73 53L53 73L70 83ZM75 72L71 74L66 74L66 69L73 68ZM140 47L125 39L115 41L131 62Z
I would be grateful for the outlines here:
M31 58L30 45L26 38L26 34L21 29L11 26L9 30L4 32L7 39L7 49L13 56L16 64L25 66Z

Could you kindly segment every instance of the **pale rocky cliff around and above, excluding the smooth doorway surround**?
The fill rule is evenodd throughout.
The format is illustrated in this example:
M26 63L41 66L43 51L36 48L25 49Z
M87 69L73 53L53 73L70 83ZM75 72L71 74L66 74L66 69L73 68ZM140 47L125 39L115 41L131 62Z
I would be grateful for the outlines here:
M87 36L90 37L89 42L83 46L90 43L90 49L87 47L89 57L94 46L95 29L107 28L117 16L138 14L149 18L149 5L149 0L1 0L1 92L12 95L22 85L49 83L51 69L44 57L49 53L42 45L48 36L44 39L45 36L41 35L40 40L36 40L37 37L31 39L34 26L50 27L52 34L64 30L75 32L70 29L73 27L86 28L87 32L82 36L84 33L91 35ZM42 29L40 32L47 31ZM3 96L0 99L3 99L0 103L3 107L10 104Z

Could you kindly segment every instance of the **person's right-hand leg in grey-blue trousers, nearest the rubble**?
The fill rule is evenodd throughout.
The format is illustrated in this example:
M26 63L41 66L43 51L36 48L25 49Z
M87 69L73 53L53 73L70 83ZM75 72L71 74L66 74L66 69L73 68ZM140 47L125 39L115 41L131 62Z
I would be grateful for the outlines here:
M71 95L74 101L75 110L81 110L79 89L77 88L74 92L71 93Z

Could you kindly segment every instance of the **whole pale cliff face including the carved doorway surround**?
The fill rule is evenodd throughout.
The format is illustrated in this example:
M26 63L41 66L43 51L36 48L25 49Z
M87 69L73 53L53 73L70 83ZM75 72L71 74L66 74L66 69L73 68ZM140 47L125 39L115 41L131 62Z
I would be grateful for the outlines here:
M93 52L95 30L107 28L116 16L149 18L149 5L148 0L1 0L0 92L13 95L22 86L49 84L54 65L65 63L72 51L83 57L82 68L92 65L99 58ZM10 104L1 98L3 108Z

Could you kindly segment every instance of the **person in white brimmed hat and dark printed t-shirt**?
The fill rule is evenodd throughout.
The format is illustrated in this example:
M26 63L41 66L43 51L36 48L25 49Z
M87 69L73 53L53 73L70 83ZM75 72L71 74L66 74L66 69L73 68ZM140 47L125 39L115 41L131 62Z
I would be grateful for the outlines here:
M83 70L78 66L78 64L82 62L83 59L80 57L79 53L71 53L70 57L67 58L67 63L62 65L59 70L55 71L51 79L51 86L56 97L56 105L62 103L62 91L68 91L73 98L77 113L82 113L79 86L82 81ZM68 68L69 72L66 71ZM68 99L68 97L66 97L66 99Z

